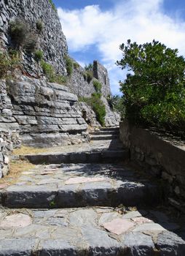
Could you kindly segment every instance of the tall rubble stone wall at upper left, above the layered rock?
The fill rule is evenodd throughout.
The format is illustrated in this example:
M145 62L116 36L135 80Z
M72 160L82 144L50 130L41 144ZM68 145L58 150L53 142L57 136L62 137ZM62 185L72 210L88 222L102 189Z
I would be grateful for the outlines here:
M1 47L11 45L8 35L9 20L22 18L28 22L32 31L36 32L36 22L42 21L43 31L38 34L38 48L44 53L44 60L55 67L56 72L66 74L63 56L67 52L66 37L60 25L57 12L52 9L48 0L1 0L0 1L0 41ZM38 67L29 55L23 54L25 70L34 75ZM38 72L38 71L37 71ZM36 72L36 73L37 73Z

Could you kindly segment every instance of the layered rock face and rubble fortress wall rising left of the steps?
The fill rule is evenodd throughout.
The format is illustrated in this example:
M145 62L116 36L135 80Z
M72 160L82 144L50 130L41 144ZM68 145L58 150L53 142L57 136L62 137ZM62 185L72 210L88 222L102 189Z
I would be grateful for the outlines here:
M34 58L34 52L14 49L9 26L12 20L23 20L36 38L36 50L63 75L65 86L49 83L44 69ZM42 29L38 31L38 23ZM67 76L67 43L57 11L48 0L0 0L0 53L19 50L20 66L0 80L0 177L8 171L8 155L21 143L29 146L68 145L88 140L87 124L99 126L95 113L78 97L90 97L95 92L85 70L73 65ZM74 61L75 62L75 61ZM46 75L47 76L47 75ZM4 78L4 79L2 79ZM102 83L102 100L106 105L106 126L119 124L119 115L111 112L106 97L111 94L107 70L94 61L92 78ZM85 115L89 120L84 120ZM83 117L82 117L83 116Z

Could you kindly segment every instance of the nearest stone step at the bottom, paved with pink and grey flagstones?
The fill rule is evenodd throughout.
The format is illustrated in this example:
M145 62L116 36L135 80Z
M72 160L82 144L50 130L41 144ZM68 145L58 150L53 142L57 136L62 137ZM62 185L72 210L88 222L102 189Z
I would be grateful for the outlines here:
M96 207L0 212L1 256L185 255L184 238L176 234L178 223L159 222L150 210L123 213Z

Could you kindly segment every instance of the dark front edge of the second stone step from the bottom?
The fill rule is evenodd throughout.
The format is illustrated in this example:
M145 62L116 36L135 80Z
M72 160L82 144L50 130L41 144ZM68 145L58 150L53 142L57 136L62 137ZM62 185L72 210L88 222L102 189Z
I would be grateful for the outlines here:
M52 185L53 186L53 185ZM79 184L61 188L8 187L1 191L1 205L8 208L81 208L87 206L154 206L161 203L162 188L157 185L125 184L112 187L110 184ZM158 195L158 197L156 197Z

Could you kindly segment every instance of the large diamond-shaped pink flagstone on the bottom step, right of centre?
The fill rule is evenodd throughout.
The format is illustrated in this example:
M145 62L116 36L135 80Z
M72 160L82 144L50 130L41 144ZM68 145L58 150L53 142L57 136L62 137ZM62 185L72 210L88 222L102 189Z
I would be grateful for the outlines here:
M134 227L134 223L128 221L127 219L113 219L111 222L103 223L103 227L109 232L121 235L127 232L130 228Z

